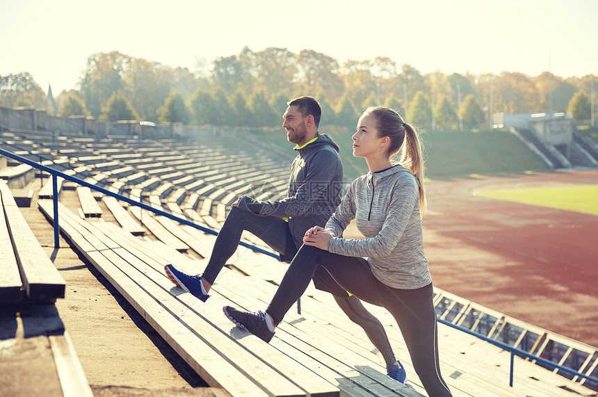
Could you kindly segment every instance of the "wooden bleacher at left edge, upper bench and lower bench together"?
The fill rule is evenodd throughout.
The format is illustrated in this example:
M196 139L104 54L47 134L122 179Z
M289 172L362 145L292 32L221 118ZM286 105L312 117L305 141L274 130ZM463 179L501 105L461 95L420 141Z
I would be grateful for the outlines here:
M65 280L0 181L0 378L3 396L92 396L56 299Z

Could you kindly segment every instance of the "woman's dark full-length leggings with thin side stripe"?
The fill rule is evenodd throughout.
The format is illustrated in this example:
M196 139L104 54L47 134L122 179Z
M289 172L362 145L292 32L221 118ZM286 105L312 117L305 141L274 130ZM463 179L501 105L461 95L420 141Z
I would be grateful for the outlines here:
M451 396L440 375L431 283L419 289L394 289L382 284L363 258L345 257L302 245L266 309L275 323L282 321L284 314L305 292L318 267L328 270L340 286L360 300L385 307L401 329L415 372L428 395Z

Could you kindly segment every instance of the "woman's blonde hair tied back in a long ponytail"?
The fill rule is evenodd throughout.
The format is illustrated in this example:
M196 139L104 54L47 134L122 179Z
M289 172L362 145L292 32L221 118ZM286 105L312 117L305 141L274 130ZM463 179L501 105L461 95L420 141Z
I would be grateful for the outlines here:
M401 151L401 158L399 161L392 161L392 163L403 165L403 167L409 169L417 179L417 184L419 186L419 211L420 215L423 217L426 213L426 191L423 189L425 168L423 166L423 154L421 151L419 133L417 133L410 124L407 124L403 118L401 118L401 115L391 108L371 106L366 108L363 115L373 116L375 127L378 129L378 134L381 137L388 136L390 138L388 149L389 157L392 157ZM403 145L405 139L407 140L407 144Z

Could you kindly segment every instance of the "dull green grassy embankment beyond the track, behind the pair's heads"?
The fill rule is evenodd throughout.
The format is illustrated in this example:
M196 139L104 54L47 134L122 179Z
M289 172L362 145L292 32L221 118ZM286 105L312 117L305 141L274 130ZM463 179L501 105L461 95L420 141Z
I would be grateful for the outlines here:
M325 128L322 132L328 133ZM366 161L353 157L353 131L347 129L346 132L329 135L341 148L346 179L353 180L368 172ZM286 140L284 131L264 132L259 138L282 150L293 147ZM507 131L429 131L421 134L421 139L429 179L550 171L538 156Z

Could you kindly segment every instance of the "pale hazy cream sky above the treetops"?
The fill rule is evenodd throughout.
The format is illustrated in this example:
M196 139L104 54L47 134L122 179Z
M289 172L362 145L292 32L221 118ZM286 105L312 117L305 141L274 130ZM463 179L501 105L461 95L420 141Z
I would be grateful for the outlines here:
M598 74L597 0L0 0L0 76L78 89L92 54L209 67L244 47L388 57L422 74Z

